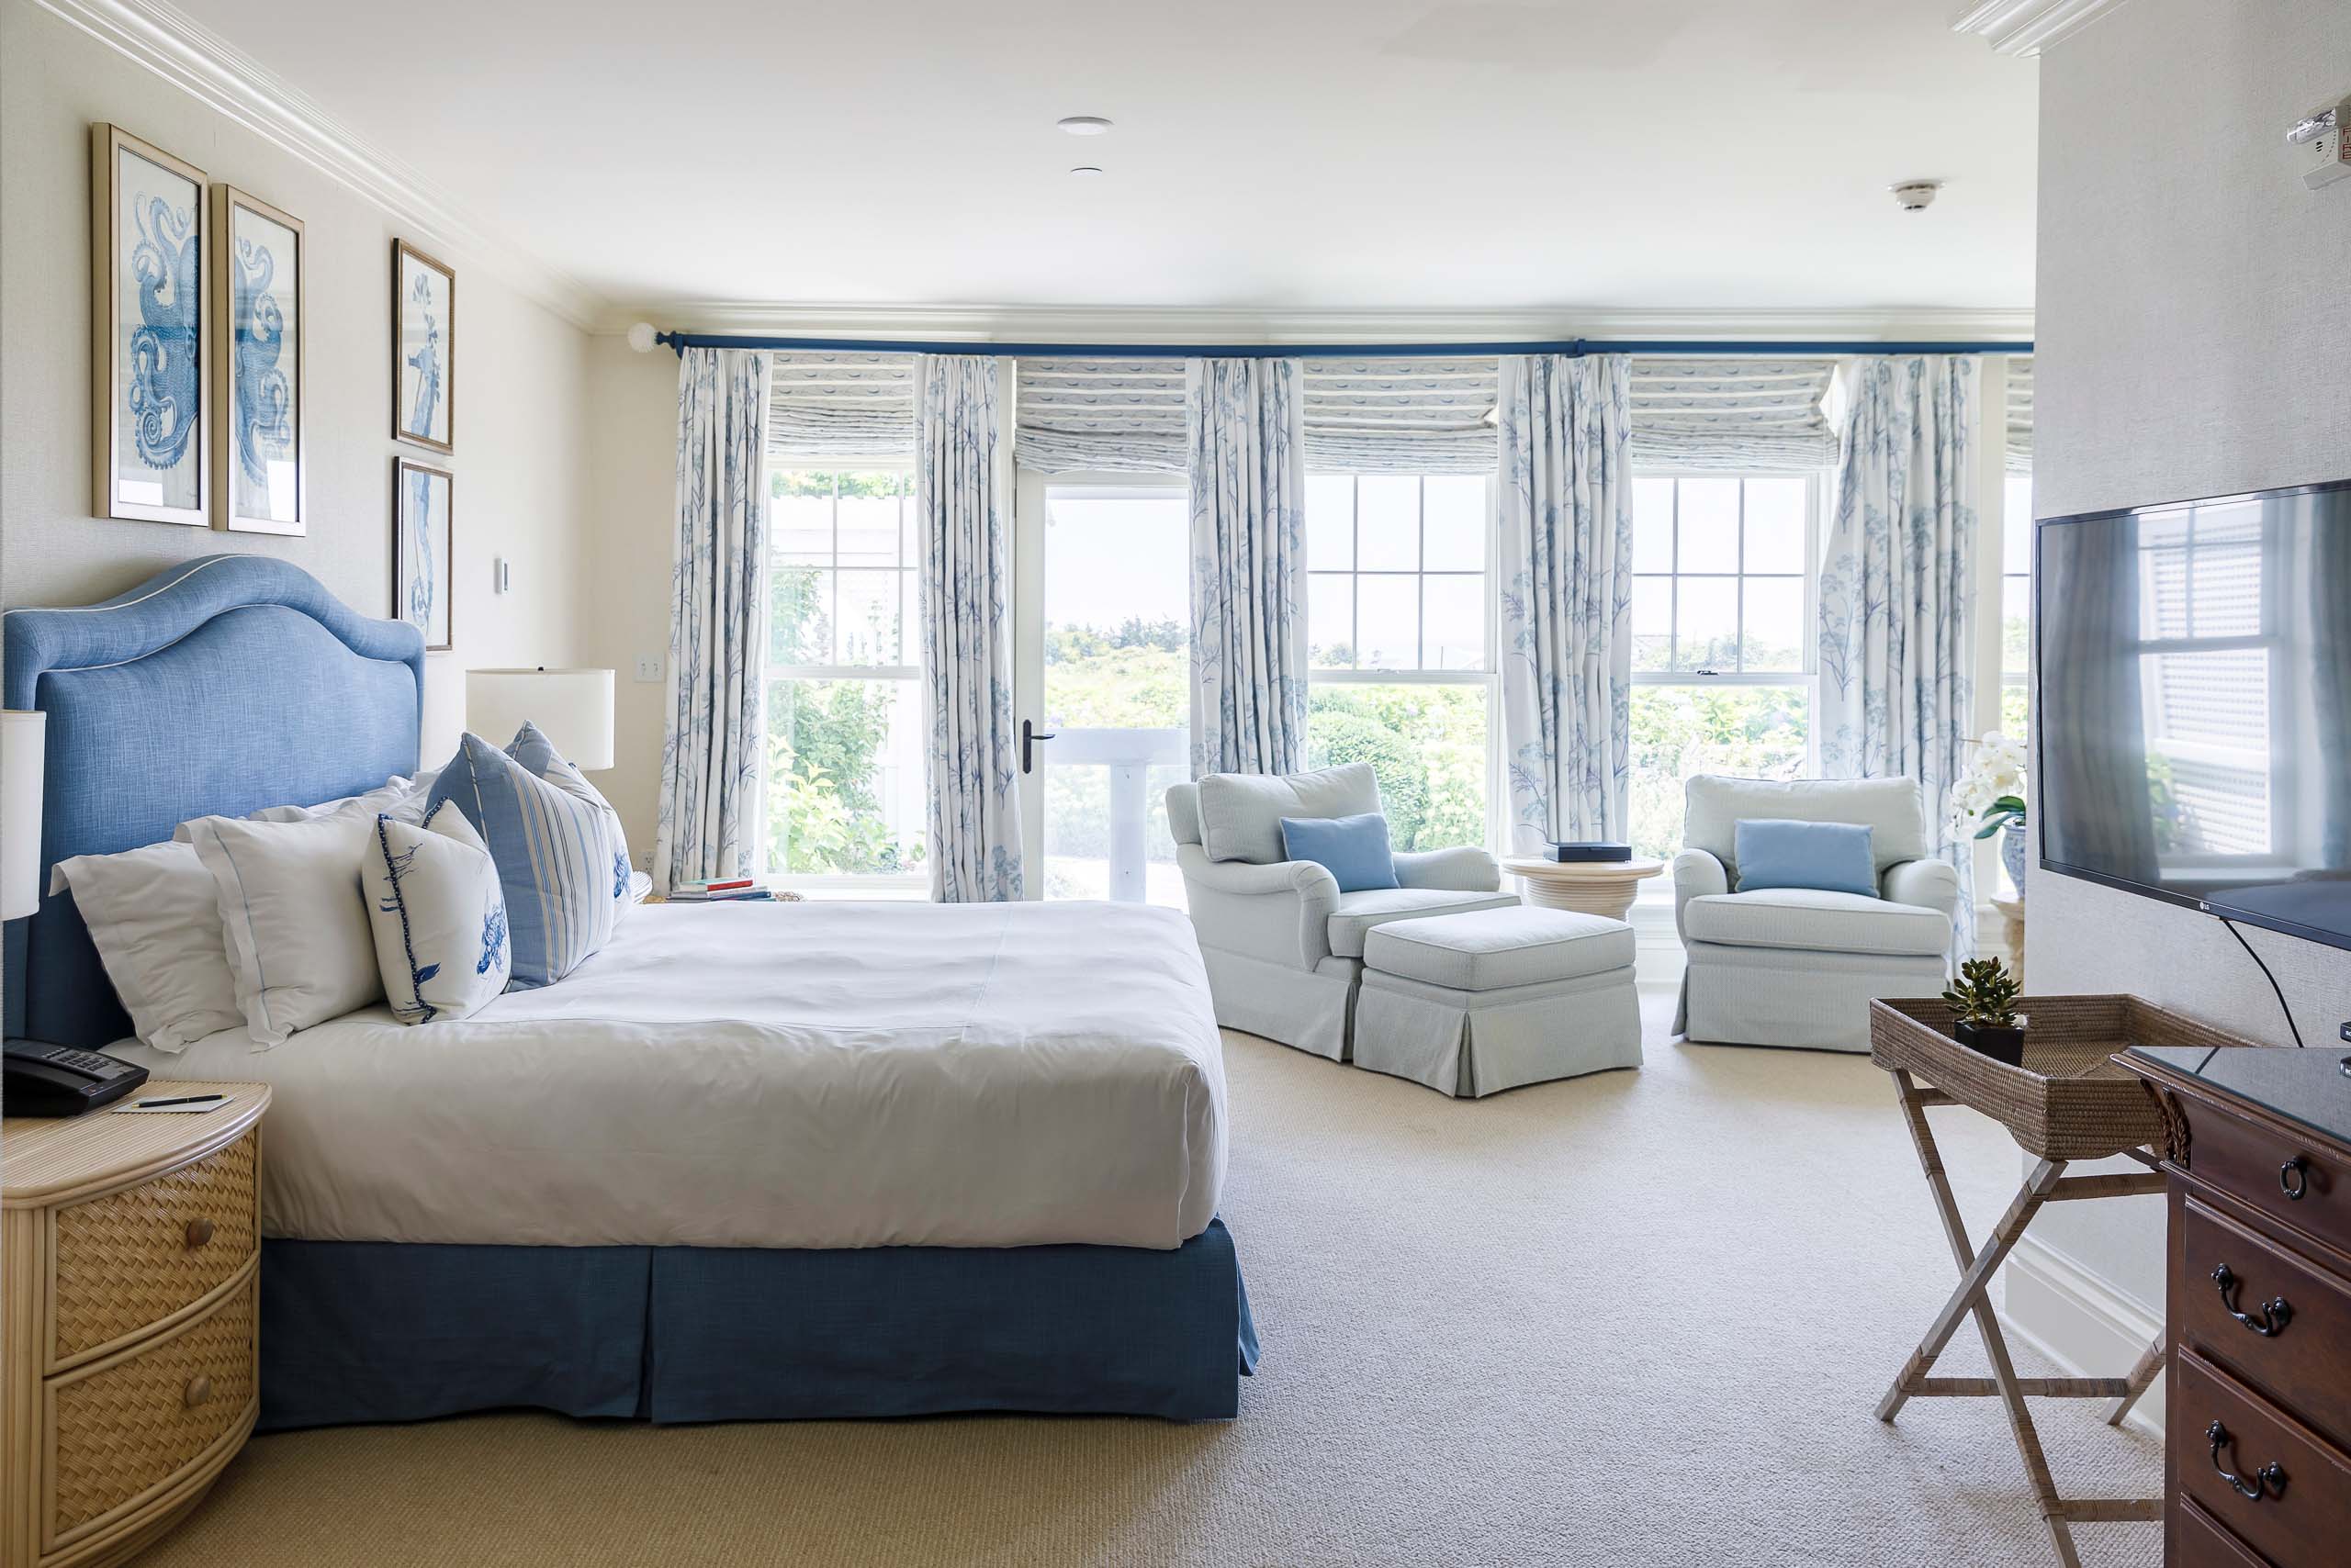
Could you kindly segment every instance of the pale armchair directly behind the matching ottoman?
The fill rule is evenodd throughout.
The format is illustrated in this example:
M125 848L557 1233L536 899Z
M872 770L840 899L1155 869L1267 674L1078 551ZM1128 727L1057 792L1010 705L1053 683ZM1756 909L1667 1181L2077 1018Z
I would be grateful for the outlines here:
M1284 860L1281 818L1380 809L1361 762L1284 778L1211 773L1171 785L1166 802L1215 1020L1314 1056L1347 1060L1373 926L1519 903L1483 849L1401 853L1401 886L1359 893L1340 893L1314 860Z

